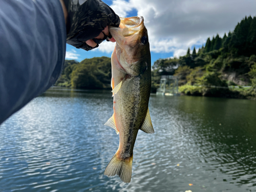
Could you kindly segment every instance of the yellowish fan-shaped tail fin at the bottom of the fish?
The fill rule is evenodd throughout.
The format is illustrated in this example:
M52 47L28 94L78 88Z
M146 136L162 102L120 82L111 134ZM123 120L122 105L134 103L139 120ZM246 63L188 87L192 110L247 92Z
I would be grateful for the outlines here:
M130 183L132 178L133 155L127 160L120 160L116 154L106 166L104 175L118 175L124 183Z

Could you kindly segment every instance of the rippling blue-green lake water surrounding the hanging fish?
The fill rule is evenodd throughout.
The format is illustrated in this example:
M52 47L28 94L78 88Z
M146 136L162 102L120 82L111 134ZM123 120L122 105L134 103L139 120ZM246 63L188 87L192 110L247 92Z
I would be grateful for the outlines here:
M156 133L139 131L130 184L103 175L119 143L103 125L112 102L53 88L5 121L0 191L256 191L256 101L152 95Z

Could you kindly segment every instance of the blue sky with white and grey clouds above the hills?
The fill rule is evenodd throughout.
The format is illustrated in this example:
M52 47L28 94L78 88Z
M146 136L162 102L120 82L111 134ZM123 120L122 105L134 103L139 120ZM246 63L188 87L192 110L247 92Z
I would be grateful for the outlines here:
M198 50L208 37L223 37L245 17L256 15L255 0L103 0L120 17L143 16L152 65L159 58ZM66 59L111 57L115 43L103 41L92 51L67 44Z

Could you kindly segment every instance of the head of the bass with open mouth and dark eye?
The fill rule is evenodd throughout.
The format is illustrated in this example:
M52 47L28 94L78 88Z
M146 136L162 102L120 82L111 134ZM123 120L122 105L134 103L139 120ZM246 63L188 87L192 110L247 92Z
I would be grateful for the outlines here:
M139 76L151 68L150 44L142 16L120 18L119 28L110 27L116 40L116 55L121 69Z

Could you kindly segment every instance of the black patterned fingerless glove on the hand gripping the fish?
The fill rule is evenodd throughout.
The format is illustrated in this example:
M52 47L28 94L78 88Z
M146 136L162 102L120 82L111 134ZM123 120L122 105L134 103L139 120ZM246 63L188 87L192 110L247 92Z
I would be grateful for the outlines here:
M64 3L68 11L67 44L77 49L89 51L99 47L108 38L102 30L106 26L119 27L119 16L100 0L64 0ZM95 39L101 32L104 39ZM93 48L87 45L89 39L93 39L97 46Z

